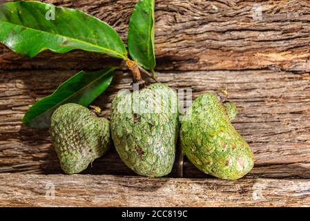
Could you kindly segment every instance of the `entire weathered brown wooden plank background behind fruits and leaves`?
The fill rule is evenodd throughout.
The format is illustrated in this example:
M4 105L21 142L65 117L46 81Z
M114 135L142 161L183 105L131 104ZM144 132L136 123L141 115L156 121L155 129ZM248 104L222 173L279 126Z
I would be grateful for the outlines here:
M126 42L137 1L45 2L84 10ZM185 158L183 178L177 165L169 177L139 177L112 149L84 174L63 175L48 131L21 119L77 71L119 61L81 51L28 59L0 45L0 206L310 206L309 1L155 2L157 78L192 88L193 97L228 90L254 169L241 180L219 180ZM120 88L130 88L125 70L95 101L107 116ZM46 198L49 184L55 200Z

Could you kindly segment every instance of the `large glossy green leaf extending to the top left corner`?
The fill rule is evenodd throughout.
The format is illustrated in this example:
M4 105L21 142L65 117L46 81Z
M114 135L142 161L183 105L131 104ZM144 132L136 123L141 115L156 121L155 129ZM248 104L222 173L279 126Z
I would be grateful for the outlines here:
M64 53L74 49L126 59L117 32L107 23L79 10L37 1L0 6L0 42L14 52L35 57L43 50Z

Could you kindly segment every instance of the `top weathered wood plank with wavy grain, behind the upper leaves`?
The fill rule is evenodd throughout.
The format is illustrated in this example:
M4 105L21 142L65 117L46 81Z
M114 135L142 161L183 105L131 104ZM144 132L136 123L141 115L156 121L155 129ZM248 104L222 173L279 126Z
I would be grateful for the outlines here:
M115 27L126 42L133 0L48 0L79 8ZM156 1L157 70L275 68L309 71L310 3L281 1ZM101 68L118 61L88 52L43 52L26 59L0 46L0 68Z

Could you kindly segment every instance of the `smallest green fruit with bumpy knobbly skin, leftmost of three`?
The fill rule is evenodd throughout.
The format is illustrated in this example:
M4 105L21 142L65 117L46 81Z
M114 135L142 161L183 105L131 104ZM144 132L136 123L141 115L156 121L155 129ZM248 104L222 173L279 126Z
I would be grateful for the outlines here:
M64 104L52 114L50 135L64 173L79 173L108 151L110 122L79 104Z

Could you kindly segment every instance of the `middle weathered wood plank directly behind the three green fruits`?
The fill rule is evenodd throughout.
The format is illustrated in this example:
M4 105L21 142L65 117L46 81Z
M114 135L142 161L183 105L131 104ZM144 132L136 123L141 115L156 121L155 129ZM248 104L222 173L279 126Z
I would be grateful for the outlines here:
M0 172L61 173L48 131L22 126L21 119L37 99L52 92L75 71L26 70L0 73ZM57 75L57 77L55 77ZM310 76L260 71L157 73L173 88L191 88L193 97L226 88L239 109L233 124L255 153L249 177L310 177ZM117 73L95 104L109 116L120 88L130 88L130 75ZM85 173L133 175L110 151ZM184 162L185 177L206 177ZM171 176L176 177L176 170Z

